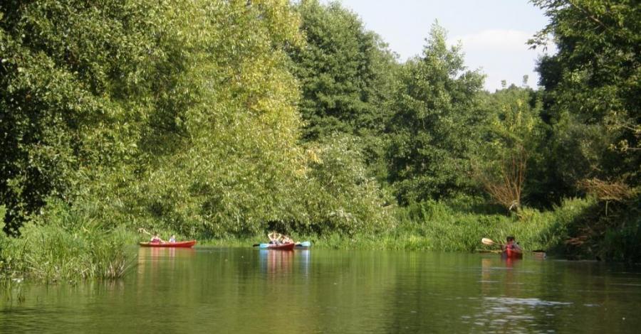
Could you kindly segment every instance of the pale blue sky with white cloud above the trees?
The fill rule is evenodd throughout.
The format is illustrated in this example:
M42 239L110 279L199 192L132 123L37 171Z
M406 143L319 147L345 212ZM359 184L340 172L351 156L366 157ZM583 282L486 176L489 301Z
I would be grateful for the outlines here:
M328 3L328 0L321 1ZM526 45L548 23L543 11L527 0L338 0L360 16L401 61L422 53L434 21L448 31L448 43L461 41L465 65L486 75L491 92L507 84L538 85L534 71L541 48ZM553 46L548 53L553 52Z

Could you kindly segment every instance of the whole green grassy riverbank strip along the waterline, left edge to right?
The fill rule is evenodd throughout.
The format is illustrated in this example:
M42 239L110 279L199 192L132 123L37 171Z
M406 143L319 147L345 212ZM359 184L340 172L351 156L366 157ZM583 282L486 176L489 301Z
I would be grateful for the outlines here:
M389 226L374 233L332 232L318 235L296 231L281 232L291 232L293 239L311 241L313 247L319 249L405 249L429 252L481 252L497 249L498 247L481 244L481 237L502 242L508 235L513 235L521 247L527 250L543 249L550 254L574 259L634 262L635 258L628 254L635 251L635 244L630 242L634 237L630 237L630 233L634 232L634 225L618 234L606 233L609 237L598 244L603 245L602 248L587 249L577 244L568 244L576 231L587 224L583 220L591 215L598 215L599 208L600 204L594 199L568 199L554 210L525 208L517 217L493 213L488 207L478 205L429 201L406 208L395 208ZM156 232L163 237L173 234L171 230L164 229L157 229ZM19 238L0 236L0 276L43 282L118 279L134 265L135 254L127 252L127 247L148 238L148 235L140 233L133 226L93 225L90 219L82 215L68 213L58 219L52 218L49 225L24 226ZM177 239L197 239L197 247L251 247L252 244L266 242L265 235L225 238L177 235ZM617 258L608 257L608 254L623 255Z

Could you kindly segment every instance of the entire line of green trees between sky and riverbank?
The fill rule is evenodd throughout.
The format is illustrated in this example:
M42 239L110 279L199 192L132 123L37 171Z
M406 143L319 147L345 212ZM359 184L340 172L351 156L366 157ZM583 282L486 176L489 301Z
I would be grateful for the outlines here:
M551 21L531 47L558 48L540 87L486 92L444 28L401 63L337 3L4 1L0 263L38 238L86 250L139 227L375 236L442 207L457 228L491 217L637 261L641 10L533 5Z

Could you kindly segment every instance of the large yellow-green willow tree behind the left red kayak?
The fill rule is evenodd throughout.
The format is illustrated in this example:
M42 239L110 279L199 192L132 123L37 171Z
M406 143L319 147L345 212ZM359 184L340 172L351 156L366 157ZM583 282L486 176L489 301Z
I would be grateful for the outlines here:
M305 156L283 48L302 42L297 16L287 1L185 1L165 15L160 43L182 68L150 118L136 216L211 235L294 220Z

